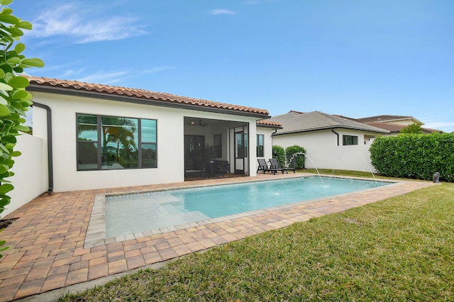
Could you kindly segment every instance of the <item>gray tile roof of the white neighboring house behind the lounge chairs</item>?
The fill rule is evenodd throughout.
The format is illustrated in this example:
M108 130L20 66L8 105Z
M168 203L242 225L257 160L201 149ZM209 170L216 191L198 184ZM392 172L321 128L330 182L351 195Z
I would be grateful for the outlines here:
M281 114L280 116L272 116L270 121L282 124L282 129L277 130L275 133L276 135L334 128L347 128L372 133L389 133L389 131L384 129L351 121L339 116L333 116L321 111L312 111L308 113L290 111L289 113Z

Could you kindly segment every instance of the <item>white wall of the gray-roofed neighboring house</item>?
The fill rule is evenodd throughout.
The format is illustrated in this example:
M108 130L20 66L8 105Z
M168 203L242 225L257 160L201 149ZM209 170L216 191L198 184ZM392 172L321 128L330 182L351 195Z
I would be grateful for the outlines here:
M299 145L306 149L306 168L345 169L362 172L374 171L370 164L369 147L373 139L358 130L316 130L304 133L274 135L272 145L287 148ZM358 136L358 145L343 145L343 135Z

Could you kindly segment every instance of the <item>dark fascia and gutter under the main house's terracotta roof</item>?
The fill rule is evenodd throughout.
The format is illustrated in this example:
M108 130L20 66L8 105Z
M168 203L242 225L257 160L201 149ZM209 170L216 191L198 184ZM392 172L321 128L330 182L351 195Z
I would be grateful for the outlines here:
M234 116L249 116L254 118L270 118L266 114L261 113L253 113L253 112L245 112L245 111L235 111L229 109L221 109L221 108L209 108L199 105L189 105L189 104L179 104L175 102L167 102L167 101L160 101L155 99L141 99L135 96L121 96L118 94L102 94L99 92L94 91L80 91L74 89L67 89L62 87L53 87L53 86L42 86L36 84L30 84L27 87L28 91L36 91L36 92L46 92L50 94L65 94L68 96L81 96L81 97L91 97L93 99L104 99L109 101L122 101L125 103L133 103L133 104L141 104L141 105L150 105L150 106L161 106L161 107L169 107L169 108L182 108L182 109L189 109L189 110L196 110L196 111L207 111L207 112L214 112L214 113L226 113L231 114Z

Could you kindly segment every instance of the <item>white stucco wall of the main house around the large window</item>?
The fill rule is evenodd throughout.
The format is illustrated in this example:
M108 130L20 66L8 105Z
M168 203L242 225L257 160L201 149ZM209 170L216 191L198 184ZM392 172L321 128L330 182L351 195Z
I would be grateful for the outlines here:
M52 109L54 191L57 192L184 181L184 116L252 123L255 129L255 118L248 116L43 92L32 94L32 101ZM34 108L34 111L35 109L37 108ZM42 113L35 115L34 111L33 135L46 140L45 116ZM76 113L157 120L157 168L77 171ZM255 130L253 132L255 133ZM250 142L250 147L255 150L255 141ZM255 153L250 160L255 162Z

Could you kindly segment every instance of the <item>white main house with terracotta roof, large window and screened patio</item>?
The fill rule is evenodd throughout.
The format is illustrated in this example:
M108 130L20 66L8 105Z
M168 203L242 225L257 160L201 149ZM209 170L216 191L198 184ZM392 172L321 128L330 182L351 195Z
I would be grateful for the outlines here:
M13 179L16 188L28 187L15 194L29 194L12 198L19 206L45 191L184 181L213 162L253 177L257 135L269 156L279 128L262 121L269 118L265 109L60 79L30 82L33 137L19 137L18 150L25 147L26 154L18 161L27 164L18 163Z

